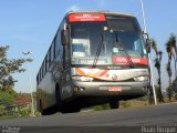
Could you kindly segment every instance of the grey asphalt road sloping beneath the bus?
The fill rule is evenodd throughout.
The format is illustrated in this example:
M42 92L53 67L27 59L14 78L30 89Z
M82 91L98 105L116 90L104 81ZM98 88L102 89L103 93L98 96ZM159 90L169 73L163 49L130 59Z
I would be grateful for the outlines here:
M33 127L38 132L59 131L59 126L67 130L87 130L97 126L103 131L117 131L117 126L175 126L177 132L177 103L128 108L122 110L91 111L70 114L54 114L39 117L0 120L2 126ZM76 126L79 129L76 129ZM105 129L106 127L106 129ZM114 127L114 129L113 129ZM42 130L42 131L41 131ZM139 130L140 131L140 130ZM106 131L107 132L107 131ZM29 132L30 133L30 132Z

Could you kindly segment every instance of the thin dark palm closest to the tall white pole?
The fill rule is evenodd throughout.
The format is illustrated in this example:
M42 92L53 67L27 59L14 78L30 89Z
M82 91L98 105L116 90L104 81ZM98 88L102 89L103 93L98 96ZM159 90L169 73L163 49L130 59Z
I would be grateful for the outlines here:
M164 102L164 98L163 98L163 93L162 93L162 71L160 71L163 52L158 51L157 43L154 39L152 39L152 48L154 49L154 51L156 53L155 68L157 69L157 72L158 72L158 85L159 85L159 90L158 90L158 93L157 93L158 94L158 101Z

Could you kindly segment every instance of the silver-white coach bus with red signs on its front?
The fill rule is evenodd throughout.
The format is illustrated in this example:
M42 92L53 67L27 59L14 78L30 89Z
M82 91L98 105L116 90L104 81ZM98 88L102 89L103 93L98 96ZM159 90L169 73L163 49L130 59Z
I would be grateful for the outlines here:
M144 96L147 49L137 19L111 11L70 11L63 18L37 75L43 114Z

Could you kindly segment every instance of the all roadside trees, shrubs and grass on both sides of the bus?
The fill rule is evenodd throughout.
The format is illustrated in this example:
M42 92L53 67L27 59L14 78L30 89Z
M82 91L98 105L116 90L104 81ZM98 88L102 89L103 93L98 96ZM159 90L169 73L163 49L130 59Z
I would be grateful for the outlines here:
M173 102L177 100L177 93L175 92L175 84L177 83L177 47L176 35L170 34L166 44L166 51L158 50L157 42L152 39L152 49L155 53L154 66L157 70L158 79L155 85L158 103ZM0 47L0 119L12 119L19 116L30 116L31 114L31 96L28 93L18 93L13 90L14 83L18 82L13 79L14 73L21 73L25 70L22 64L31 62L31 59L8 59L9 47ZM162 60L164 53L167 52L166 72L168 74L168 88L164 91L162 89ZM34 100L37 94L33 93ZM149 89L148 95L129 101L121 101L121 109L129 106L145 106L154 104L153 91ZM40 115L37 111L35 115ZM108 103L94 106L93 110L108 110L111 109Z

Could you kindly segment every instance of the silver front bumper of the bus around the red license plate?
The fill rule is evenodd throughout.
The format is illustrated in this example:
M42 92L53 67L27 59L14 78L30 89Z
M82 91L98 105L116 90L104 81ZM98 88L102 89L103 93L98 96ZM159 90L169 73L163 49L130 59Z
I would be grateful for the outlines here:
M125 95L136 96L147 94L146 82L80 82L73 81L74 95ZM110 86L119 86L121 91L108 91Z

